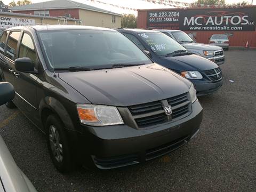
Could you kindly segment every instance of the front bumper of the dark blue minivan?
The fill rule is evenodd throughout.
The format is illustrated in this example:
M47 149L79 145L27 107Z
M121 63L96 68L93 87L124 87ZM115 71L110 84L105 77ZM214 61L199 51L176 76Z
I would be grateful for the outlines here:
M197 83L196 81L191 81L196 89L197 96L203 96L212 94L219 90L223 83L223 77L218 82L207 82L207 83Z

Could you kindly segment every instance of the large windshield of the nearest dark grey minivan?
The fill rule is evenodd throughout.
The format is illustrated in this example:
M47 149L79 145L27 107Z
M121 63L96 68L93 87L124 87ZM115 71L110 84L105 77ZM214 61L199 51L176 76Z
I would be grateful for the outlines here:
M47 63L54 69L99 69L152 63L117 31L51 30L38 34Z

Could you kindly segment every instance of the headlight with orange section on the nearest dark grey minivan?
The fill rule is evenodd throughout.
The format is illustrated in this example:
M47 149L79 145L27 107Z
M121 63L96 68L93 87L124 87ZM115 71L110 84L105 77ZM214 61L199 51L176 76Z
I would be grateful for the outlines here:
M116 107L77 104L77 111L81 123L86 125L106 126L124 123Z

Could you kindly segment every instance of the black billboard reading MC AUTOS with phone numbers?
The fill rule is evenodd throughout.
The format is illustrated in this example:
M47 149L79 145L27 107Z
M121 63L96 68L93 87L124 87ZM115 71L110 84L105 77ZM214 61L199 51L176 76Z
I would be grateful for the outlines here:
M148 11L147 27L186 31L255 31L256 7Z

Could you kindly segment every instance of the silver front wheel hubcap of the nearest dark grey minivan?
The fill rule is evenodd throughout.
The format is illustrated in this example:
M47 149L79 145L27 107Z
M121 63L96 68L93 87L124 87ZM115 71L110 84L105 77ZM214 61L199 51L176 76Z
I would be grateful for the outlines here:
M59 162L59 163L62 162L63 147L60 142L60 134L54 125L50 126L49 139L50 139L50 146L52 149L53 156L55 157L57 162Z

